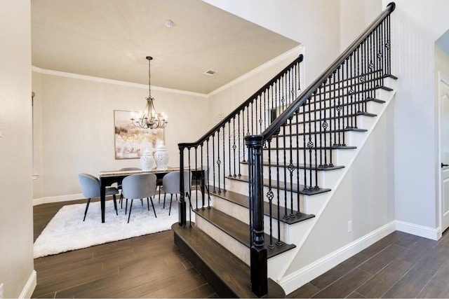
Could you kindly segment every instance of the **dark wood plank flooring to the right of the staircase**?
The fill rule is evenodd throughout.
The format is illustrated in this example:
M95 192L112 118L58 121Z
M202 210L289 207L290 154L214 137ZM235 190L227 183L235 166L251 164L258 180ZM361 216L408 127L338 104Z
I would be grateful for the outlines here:
M449 237L393 232L288 298L449 298Z

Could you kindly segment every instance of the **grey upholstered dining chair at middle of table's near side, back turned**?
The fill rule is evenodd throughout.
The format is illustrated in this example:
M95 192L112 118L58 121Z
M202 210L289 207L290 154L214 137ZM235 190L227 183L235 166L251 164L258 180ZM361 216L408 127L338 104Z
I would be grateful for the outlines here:
M128 223L133 209L133 200L142 200L147 197L148 211L149 200L152 202L154 211L154 217L156 216L156 210L154 209L153 197L156 195L156 174L132 174L126 176L121 183L121 192L123 198L126 198L125 214L128 209L128 199L131 200L128 214Z

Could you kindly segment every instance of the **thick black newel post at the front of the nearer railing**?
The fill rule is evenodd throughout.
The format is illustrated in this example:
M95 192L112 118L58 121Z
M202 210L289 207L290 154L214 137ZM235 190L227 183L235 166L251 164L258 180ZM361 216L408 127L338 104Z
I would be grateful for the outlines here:
M267 248L264 244L262 136L247 136L245 141L248 147L251 289L255 295L262 297L268 293Z

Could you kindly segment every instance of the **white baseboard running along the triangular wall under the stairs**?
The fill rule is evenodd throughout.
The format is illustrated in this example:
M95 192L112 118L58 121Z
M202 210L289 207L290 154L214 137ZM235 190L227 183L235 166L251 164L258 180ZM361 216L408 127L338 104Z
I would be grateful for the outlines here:
M300 288L300 286L307 284L307 282L332 269L339 263L342 263L342 261L347 260L351 256L354 256L356 253L366 249L368 246L374 244L383 237L391 234L391 232L394 232L395 230L396 222L391 221L381 228L378 228L377 230L364 235L356 241L343 246L337 251L316 260L314 263L311 263L306 267L293 272L292 274L288 274L286 277L283 277L280 281L278 281L278 283L287 294L291 293L297 288Z

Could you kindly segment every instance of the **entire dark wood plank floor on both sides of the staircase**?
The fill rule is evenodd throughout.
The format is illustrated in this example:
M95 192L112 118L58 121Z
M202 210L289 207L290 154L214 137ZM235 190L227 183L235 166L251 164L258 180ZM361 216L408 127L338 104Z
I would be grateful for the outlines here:
M34 239L64 204L34 207ZM83 202L83 201L81 201ZM33 298L208 298L215 291L171 231L34 260ZM449 298L449 237L394 232L288 298Z

